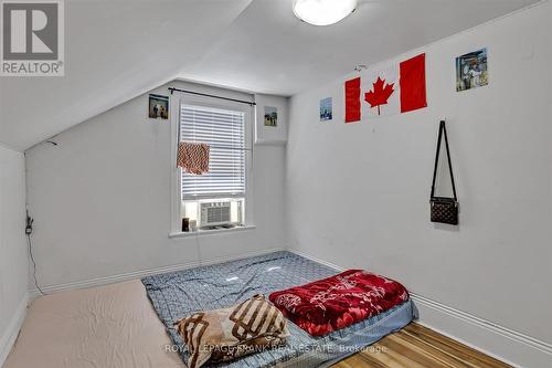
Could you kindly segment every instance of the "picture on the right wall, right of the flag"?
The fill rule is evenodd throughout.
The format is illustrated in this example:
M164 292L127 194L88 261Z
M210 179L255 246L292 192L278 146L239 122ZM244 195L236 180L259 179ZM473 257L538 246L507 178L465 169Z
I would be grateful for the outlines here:
M456 57L456 91L467 91L489 84L487 49Z

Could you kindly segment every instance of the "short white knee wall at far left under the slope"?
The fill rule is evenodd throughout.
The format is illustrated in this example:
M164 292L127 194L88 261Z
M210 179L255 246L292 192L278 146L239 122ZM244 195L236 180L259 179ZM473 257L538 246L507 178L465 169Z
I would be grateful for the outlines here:
M0 146L0 366L26 307L24 171L23 154Z

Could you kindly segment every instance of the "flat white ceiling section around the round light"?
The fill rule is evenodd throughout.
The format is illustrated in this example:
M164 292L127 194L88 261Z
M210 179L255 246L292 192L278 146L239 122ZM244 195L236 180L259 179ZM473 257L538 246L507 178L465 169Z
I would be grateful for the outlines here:
M329 27L299 21L291 2L253 1L201 62L180 75L293 95L537 0L360 0L354 13Z

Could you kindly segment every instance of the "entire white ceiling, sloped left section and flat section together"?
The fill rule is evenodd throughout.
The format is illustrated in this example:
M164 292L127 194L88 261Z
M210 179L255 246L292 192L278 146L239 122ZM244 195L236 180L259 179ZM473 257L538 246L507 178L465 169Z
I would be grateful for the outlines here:
M0 77L0 143L24 150L176 76L279 95L538 0L361 0L343 22L291 0L65 0L65 76Z

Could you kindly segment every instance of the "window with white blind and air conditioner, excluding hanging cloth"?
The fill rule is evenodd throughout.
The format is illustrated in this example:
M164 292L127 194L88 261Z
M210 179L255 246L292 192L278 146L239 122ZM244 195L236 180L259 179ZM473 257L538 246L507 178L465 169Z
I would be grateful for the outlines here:
M209 172L181 170L181 215L201 229L243 225L247 189L246 127L241 106L181 103L179 141L210 146ZM248 108L248 107L247 107Z

